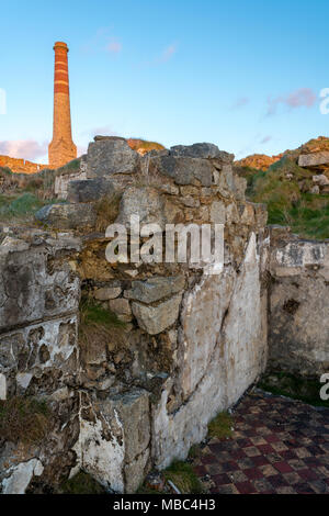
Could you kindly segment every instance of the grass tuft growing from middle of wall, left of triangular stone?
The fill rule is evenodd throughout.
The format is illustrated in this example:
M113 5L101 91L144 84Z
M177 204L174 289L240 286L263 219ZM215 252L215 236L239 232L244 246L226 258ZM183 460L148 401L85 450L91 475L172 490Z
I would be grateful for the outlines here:
M125 327L126 323L120 321L109 309L103 309L90 299L81 302L79 340L82 346L88 346L95 339L107 344L113 335L122 340Z

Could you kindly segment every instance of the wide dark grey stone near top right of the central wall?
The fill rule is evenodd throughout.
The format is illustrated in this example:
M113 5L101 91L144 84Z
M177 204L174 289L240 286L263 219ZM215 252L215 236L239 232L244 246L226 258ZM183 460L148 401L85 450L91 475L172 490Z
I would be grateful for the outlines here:
M213 182L214 167L211 161L202 158L154 157L150 158L149 169L172 178L177 184L193 184L198 180L203 187L209 187Z

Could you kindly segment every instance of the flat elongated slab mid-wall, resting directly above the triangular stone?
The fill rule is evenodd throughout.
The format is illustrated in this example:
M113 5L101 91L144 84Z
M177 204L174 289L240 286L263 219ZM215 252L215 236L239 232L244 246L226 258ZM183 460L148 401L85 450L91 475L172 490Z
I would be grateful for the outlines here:
M181 292L185 284L183 276L172 278L151 278L147 281L133 281L128 296L141 303L156 303L164 298Z

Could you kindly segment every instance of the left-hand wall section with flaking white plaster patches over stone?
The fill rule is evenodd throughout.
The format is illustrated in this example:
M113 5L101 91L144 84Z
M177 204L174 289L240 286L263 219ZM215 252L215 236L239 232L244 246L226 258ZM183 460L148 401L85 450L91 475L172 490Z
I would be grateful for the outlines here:
M76 392L80 281L69 257L75 239L54 239L35 231L0 246L0 400L16 396L45 401L52 410L46 435L37 442L3 440L0 435L2 493L52 485L76 463L70 451L79 435ZM11 422L13 424L13 422Z

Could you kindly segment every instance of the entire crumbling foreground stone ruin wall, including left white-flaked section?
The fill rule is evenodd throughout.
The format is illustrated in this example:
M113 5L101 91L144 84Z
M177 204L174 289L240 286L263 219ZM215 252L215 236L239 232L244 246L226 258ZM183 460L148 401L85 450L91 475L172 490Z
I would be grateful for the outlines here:
M4 493L45 492L80 469L112 492L132 493L150 468L186 458L208 422L264 371L268 322L270 359L276 352L271 283L282 281L273 263L283 255L270 246L264 206L245 200L232 158L211 144L140 157L121 138L98 139L88 179L68 186L67 203L38 213L47 231L2 240L0 397L39 396L55 415L37 447L0 440ZM98 201L118 193L123 224L136 213L162 228L225 223L223 272L107 263ZM81 345L81 295L125 328Z

